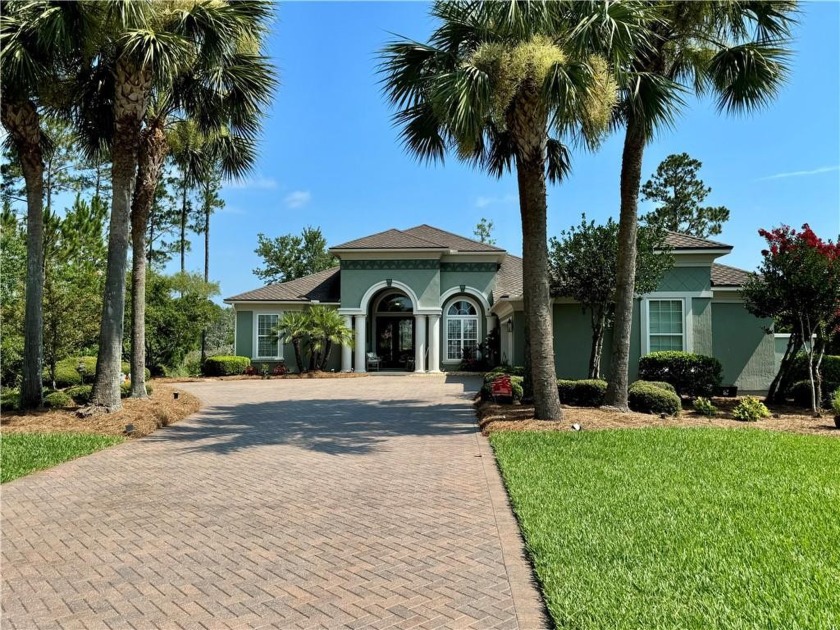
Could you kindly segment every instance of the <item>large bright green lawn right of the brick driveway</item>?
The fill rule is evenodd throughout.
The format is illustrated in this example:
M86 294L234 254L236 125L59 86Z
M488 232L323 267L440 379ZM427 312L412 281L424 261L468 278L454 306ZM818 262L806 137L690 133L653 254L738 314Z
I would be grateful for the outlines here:
M840 440L491 437L559 628L840 628Z

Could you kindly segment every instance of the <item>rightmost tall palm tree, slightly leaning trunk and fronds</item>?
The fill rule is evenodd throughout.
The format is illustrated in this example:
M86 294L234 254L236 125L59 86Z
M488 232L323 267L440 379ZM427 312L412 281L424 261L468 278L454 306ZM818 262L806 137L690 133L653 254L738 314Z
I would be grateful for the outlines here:
M639 184L647 143L673 126L683 94L707 93L719 111L739 113L773 100L787 75L792 2L653 3L651 33L619 73L616 124L625 127L612 364L606 404L627 410L636 271Z

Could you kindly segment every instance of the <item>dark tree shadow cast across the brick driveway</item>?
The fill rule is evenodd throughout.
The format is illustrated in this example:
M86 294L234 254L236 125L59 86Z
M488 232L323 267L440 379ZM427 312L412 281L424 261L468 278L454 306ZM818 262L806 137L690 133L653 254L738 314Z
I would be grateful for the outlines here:
M447 378L447 383L455 382L456 377ZM464 385L462 404L429 404L422 399L295 399L293 392L284 392L289 399L207 407L193 422L173 425L144 439L178 442L187 452L220 455L273 444L331 455L365 455L387 450L392 438L475 431L475 411L469 404L474 382L465 377Z

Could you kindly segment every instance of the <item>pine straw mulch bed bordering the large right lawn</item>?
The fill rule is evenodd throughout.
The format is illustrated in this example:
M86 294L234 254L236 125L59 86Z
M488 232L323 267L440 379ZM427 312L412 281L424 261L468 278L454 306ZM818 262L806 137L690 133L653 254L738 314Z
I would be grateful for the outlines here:
M570 431L572 424L579 424L584 430L642 429L646 427L718 427L723 429L759 428L770 431L787 431L811 435L840 437L840 430L834 426L830 412L821 418L814 418L796 407L772 407L774 417L758 422L742 422L732 417L732 409L738 404L733 398L713 398L719 409L715 418L707 418L691 409L684 409L676 418L662 419L646 413L621 413L589 407L566 407L561 422L534 420L531 405L502 405L490 401L476 403L478 424L484 435L497 431Z

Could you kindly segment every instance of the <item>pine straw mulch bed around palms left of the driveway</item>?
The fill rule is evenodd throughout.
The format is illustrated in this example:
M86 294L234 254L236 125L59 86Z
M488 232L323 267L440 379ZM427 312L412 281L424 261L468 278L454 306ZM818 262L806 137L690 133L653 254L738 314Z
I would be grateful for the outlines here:
M123 407L114 413L89 418L76 416L77 408L51 409L30 414L3 412L0 431L9 433L98 433L125 435L125 427L134 425L130 437L143 437L156 429L178 422L198 411L198 398L185 391L154 381L152 395L140 400L124 398ZM178 392L178 400L173 394Z

